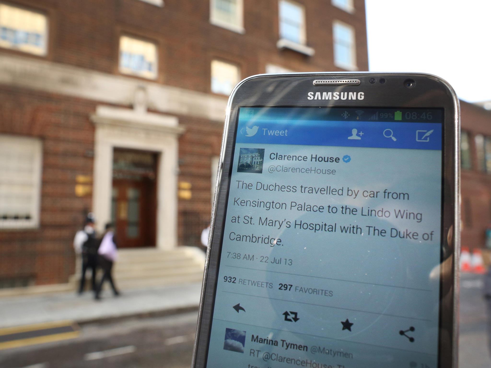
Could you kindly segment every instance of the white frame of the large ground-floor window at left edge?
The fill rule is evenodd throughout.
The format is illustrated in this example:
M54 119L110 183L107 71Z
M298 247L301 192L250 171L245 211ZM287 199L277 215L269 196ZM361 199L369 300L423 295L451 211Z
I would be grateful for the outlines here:
M0 230L5 229L36 229L39 227L39 217L41 210L41 172L43 160L43 144L41 139L33 137L22 137L9 134L0 134L0 145L14 144L16 147L29 145L34 150L34 160L32 162L32 203L31 215L28 220L2 220L0 218Z

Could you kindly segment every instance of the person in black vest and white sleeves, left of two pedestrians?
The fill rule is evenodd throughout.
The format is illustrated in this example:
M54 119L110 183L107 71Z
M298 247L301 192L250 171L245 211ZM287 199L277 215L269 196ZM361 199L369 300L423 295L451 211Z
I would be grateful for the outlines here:
M73 245L75 252L82 254L82 275L80 278L79 294L82 294L85 286L85 272L88 268L92 270L92 290L96 290L97 250L100 240L95 232L95 218L92 213L87 214L83 230L75 235Z

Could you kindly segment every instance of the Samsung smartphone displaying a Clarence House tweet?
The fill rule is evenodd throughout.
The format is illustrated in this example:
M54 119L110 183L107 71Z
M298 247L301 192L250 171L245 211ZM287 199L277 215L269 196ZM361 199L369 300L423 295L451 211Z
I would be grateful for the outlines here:
M426 74L239 83L193 367L456 367L458 106Z

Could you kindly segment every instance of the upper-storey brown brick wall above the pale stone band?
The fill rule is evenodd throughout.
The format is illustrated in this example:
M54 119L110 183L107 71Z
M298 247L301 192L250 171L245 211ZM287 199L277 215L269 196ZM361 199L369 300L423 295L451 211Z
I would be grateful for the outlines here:
M341 71L333 63L332 22L355 28L358 70L368 70L365 4L350 14L330 1L298 0L306 15L307 46L314 56L279 50L278 1L244 1L245 33L210 24L209 0L166 0L156 7L139 0L12 0L48 14L48 60L118 74L119 36L154 41L164 84L210 92L213 58L235 62L243 78L264 73L267 63L299 72Z

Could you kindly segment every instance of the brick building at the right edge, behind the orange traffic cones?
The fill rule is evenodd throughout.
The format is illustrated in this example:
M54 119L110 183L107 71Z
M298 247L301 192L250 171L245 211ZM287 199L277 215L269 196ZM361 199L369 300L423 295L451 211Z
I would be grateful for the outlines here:
M491 224L491 111L461 101L462 246L482 248Z

